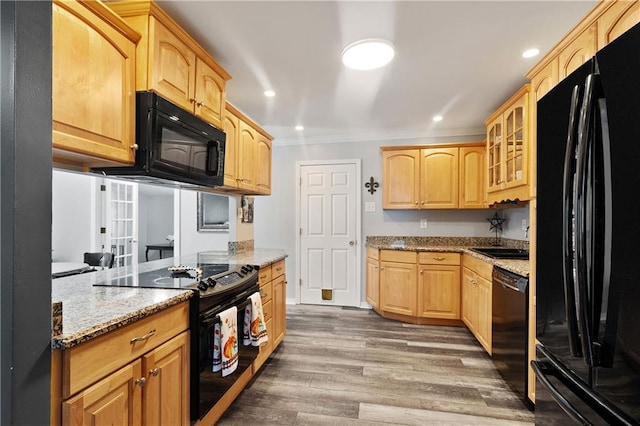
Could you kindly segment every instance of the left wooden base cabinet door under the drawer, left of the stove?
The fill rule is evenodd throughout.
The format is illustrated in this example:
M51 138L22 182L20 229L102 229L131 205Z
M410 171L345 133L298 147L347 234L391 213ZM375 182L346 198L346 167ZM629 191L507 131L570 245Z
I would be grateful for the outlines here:
M142 369L140 360L110 374L62 403L62 424L141 425Z

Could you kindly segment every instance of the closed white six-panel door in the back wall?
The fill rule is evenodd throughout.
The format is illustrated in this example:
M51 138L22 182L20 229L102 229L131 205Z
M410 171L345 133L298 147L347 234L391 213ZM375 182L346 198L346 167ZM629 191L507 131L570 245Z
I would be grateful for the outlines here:
M299 163L300 303L360 306L360 163Z

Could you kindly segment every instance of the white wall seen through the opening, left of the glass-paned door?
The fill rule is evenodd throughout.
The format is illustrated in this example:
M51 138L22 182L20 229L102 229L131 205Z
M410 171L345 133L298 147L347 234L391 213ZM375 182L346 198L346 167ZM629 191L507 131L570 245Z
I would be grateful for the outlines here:
M96 250L91 235L96 178L88 174L53 170L51 253L55 262L82 262L84 252Z

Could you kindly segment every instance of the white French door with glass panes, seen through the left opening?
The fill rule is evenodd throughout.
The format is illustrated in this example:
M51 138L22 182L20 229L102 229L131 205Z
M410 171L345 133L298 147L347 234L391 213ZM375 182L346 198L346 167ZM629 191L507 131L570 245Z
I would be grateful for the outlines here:
M106 180L107 249L114 267L138 263L138 184Z

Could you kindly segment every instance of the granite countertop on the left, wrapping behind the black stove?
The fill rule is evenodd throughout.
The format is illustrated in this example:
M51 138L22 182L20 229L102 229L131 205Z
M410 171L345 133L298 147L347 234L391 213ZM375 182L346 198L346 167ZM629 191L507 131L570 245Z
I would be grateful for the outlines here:
M62 327L53 328L53 349L67 349L149 316L192 297L191 290L134 287L99 287L96 283L179 264L229 263L266 266L287 257L284 250L256 248L238 253L210 251L57 278L51 300L62 302ZM55 322L55 321L54 321Z

